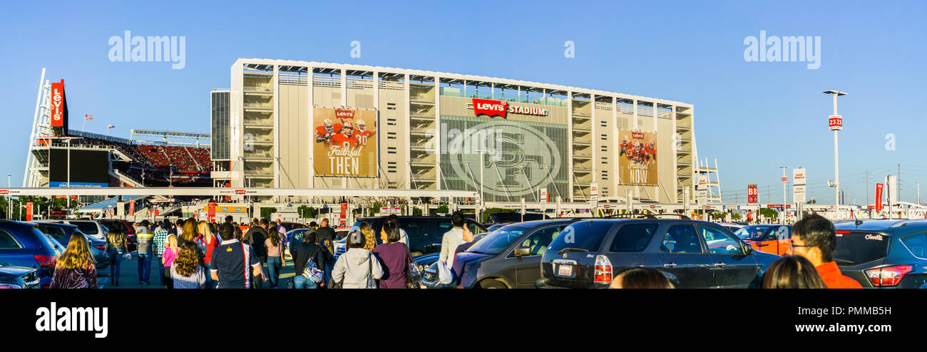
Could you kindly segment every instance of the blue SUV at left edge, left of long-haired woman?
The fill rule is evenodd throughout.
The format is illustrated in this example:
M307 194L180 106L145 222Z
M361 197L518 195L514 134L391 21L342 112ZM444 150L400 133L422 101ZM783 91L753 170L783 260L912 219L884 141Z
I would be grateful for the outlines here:
M43 288L55 273L55 248L32 222L0 220L0 261L38 270Z

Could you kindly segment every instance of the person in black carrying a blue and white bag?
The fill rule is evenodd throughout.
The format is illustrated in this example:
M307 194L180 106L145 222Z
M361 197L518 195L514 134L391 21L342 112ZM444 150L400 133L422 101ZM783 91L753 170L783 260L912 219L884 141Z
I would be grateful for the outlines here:
M294 288L319 288L324 286L324 268L331 260L331 254L318 244L319 234L310 230L303 234L302 241L290 248L293 256ZM327 256L326 256L327 255Z

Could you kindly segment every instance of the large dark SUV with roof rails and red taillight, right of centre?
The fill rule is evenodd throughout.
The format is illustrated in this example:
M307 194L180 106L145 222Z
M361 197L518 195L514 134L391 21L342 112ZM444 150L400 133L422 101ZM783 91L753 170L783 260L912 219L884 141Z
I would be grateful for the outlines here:
M762 286L779 256L754 251L716 223L603 219L567 226L541 258L539 288L607 288L626 268L664 271L679 288Z

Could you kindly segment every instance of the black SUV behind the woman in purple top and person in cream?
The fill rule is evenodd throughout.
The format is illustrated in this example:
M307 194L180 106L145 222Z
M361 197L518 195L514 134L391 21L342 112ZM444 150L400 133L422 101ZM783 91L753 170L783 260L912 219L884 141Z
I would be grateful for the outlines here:
M376 242L379 244L381 241L380 230L383 229L383 221L386 219L387 217L376 217L362 218L358 219L358 221L366 222L374 228ZM451 231L453 228L451 217L405 216L399 217L399 221L400 229L409 235L409 250L412 251L413 257L440 251L441 239L444 237L444 233ZM355 225L357 224L355 223ZM486 232L486 227L470 218L466 220L466 227L474 235ZM344 242L344 240L338 242ZM340 255L344 253L344 250L337 247L336 252L336 255Z

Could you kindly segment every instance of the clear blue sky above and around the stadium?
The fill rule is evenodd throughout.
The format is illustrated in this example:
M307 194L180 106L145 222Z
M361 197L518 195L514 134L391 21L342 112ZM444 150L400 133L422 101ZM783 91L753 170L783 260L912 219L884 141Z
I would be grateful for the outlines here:
M921 148L927 2L42 2L0 12L0 172L21 182L41 69L64 79L71 128L209 132L209 92L237 57L429 69L652 96L695 106L700 157L717 161L725 198L781 202L781 165L805 167L808 197L832 203L839 100L841 186L866 198L897 171L902 199L925 182ZM186 37L186 66L110 62L108 39ZM745 62L744 37L820 36L819 69ZM350 42L362 57L352 58ZM576 57L564 57L565 41ZM895 134L894 151L885 150ZM874 182L874 181L872 181ZM874 186L873 186L874 188ZM874 192L870 189L870 192ZM925 188L927 199L927 188Z

